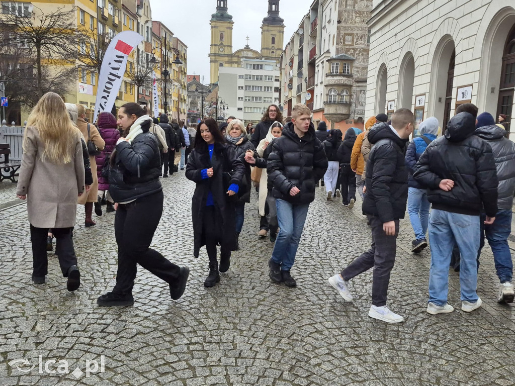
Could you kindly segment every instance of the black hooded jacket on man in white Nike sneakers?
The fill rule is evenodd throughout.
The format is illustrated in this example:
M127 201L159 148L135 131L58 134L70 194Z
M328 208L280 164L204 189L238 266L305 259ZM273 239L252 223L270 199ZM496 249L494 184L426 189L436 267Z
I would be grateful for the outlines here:
M385 122L374 125L368 140L374 146L366 168L363 214L377 216L383 223L404 218L408 199L404 156L408 140L399 137Z

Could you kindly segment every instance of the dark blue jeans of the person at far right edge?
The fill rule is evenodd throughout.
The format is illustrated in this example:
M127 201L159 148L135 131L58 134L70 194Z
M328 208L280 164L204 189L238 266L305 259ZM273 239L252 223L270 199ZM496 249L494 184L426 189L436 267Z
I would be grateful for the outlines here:
M492 225L485 225L485 232L481 232L481 242L477 252L477 268L479 268L479 255L485 245L485 236L490 244L495 262L497 277L501 283L511 282L513 276L513 262L508 247L508 236L511 233L511 210L499 210Z

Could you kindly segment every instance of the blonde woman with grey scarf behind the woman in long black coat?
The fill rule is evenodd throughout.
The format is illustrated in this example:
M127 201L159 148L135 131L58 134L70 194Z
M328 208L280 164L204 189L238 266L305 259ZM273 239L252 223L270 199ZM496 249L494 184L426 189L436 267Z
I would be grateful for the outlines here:
M239 234L242 232L243 221L245 217L245 203L250 202L250 164L245 161L245 156L251 155L257 157L254 145L249 141L247 132L243 127L243 122L239 119L231 120L226 131L226 142L236 152L236 156L245 165L245 177L238 191L238 201L235 203L236 209L236 249L239 249Z

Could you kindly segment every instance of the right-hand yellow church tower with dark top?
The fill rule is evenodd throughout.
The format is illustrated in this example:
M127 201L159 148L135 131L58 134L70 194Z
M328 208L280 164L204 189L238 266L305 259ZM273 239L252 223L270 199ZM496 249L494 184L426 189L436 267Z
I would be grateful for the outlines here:
M284 20L279 16L279 0L268 0L268 16L261 26L261 55L279 60L283 51Z

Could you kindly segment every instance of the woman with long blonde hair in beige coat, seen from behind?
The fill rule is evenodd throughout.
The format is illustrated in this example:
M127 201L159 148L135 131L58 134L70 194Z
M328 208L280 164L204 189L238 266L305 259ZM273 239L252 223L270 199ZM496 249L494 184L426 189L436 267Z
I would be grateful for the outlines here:
M80 131L72 124L61 97L46 93L32 110L23 137L22 165L16 196L27 200L30 222L32 281L45 283L46 238L57 239L56 254L68 291L80 286L72 231L77 197L84 193L84 161Z

